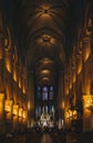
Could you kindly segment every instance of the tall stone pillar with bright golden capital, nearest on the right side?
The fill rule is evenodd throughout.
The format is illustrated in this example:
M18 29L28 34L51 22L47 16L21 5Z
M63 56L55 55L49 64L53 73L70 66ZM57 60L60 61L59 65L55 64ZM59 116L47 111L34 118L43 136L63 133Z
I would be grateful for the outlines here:
M92 117L92 112L91 110L89 110L89 103L91 101L91 95L90 95L90 80L91 78L89 78L89 68L92 68L90 66L89 58L91 56L91 37L89 35L84 35L83 37L83 50L82 50L82 63L83 63L83 79L82 79L82 91L83 91L83 132L85 131L91 131L92 127L92 121L93 117Z

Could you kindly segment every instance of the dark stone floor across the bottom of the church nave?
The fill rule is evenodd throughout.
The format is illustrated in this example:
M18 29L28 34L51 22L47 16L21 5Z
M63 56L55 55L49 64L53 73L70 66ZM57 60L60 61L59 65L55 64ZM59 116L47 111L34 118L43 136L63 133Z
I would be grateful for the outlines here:
M0 143L93 143L93 133L25 133L0 136Z

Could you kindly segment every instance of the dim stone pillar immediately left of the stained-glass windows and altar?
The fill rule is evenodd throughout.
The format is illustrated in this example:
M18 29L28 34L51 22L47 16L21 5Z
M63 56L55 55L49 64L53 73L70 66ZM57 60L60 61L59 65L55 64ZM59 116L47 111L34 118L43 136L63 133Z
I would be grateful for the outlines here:
M31 128L34 123L34 79L33 70L29 72L28 77L28 128Z

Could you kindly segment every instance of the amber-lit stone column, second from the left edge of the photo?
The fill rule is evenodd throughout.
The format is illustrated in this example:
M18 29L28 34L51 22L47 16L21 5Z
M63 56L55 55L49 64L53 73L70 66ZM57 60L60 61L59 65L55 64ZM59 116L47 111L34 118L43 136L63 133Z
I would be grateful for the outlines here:
M7 132L12 131L12 106L13 106L13 80L12 80L12 53L11 50L4 50L4 87L6 87L6 95L7 99L6 102L10 105L10 111L6 112L6 129ZM12 103L10 103L12 101Z

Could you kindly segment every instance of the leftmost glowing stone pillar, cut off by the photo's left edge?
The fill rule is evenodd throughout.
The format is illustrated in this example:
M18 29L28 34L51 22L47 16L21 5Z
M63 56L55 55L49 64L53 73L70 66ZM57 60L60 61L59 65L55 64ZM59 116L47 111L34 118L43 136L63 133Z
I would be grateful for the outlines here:
M4 125L4 74L3 74L3 35L0 32L0 134L6 132Z

